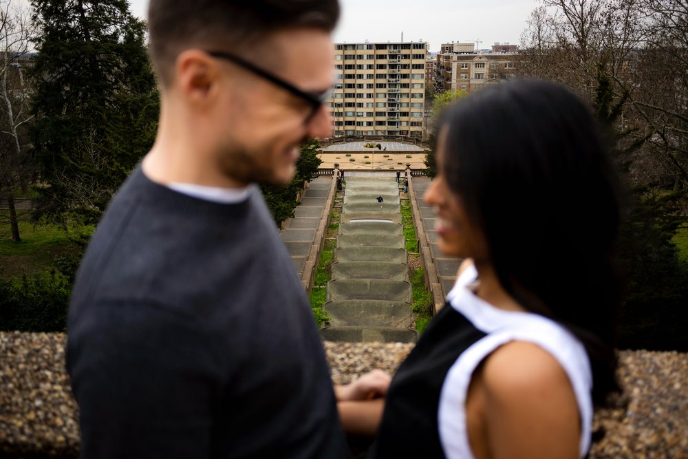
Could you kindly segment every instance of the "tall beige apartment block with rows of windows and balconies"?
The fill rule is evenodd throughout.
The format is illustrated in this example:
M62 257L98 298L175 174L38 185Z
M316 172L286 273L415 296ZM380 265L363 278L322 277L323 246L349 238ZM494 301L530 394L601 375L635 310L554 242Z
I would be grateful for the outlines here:
M427 43L336 43L334 136L422 137Z

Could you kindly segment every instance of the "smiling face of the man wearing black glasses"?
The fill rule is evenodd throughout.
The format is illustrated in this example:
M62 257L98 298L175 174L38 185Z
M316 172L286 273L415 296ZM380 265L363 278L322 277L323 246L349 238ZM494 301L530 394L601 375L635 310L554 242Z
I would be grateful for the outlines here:
M332 86L332 41L326 32L276 32L261 49L266 51L241 57L301 92L322 94ZM241 184L288 184L299 145L330 136L329 111L255 72L227 65L242 84L229 89L224 119L217 123L217 167Z

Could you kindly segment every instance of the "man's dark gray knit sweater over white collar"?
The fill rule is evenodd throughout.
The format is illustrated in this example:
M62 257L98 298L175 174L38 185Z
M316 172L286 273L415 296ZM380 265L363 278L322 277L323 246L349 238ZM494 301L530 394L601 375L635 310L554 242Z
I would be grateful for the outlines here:
M82 458L343 458L325 354L257 189L197 200L137 169L67 327Z

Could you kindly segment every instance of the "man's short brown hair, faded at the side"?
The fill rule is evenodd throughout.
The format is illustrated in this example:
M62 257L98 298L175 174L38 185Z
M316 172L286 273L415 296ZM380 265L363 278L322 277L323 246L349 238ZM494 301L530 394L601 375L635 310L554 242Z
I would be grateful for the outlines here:
M338 0L151 0L151 60L160 83L167 85L184 50L232 51L290 28L332 32L338 17Z

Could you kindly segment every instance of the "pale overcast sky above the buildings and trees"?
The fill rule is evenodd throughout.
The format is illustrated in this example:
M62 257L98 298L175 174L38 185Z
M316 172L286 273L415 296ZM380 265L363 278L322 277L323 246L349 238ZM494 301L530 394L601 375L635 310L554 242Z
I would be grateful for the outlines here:
M148 0L129 0L131 12L145 17ZM193 0L189 0L193 1ZM340 0L342 16L334 41L427 41L430 51L442 43L480 41L518 44L536 0Z

